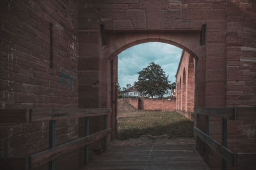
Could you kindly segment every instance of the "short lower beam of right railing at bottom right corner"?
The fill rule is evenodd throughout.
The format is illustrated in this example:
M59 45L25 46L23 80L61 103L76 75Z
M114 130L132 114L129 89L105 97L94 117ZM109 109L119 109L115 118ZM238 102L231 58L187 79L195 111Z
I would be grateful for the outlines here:
M236 166L256 169L256 153L236 153Z

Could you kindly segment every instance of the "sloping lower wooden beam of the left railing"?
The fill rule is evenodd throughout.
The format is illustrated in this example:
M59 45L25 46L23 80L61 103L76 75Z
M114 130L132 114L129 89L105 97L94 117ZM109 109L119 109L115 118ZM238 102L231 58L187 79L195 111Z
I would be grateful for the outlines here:
M60 157L61 155L64 155L65 153L77 150L79 148L82 148L83 146L93 143L94 141L102 139L103 137L108 135L110 132L111 132L111 128L107 128L105 130L97 132L96 134L88 135L86 137L82 137L80 139L71 141L70 143L61 144L56 148L52 148L50 150L45 150L40 153L36 153L35 155L31 155L30 156L31 169L41 166L42 164L45 164L51 160L54 160Z

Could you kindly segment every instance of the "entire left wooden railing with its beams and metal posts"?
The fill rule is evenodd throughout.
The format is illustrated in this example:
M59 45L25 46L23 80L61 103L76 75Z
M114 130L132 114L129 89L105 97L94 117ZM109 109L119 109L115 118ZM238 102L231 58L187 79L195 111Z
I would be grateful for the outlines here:
M104 139L104 151L107 147L107 135L111 128L107 128L107 116L111 114L109 108L97 109L3 109L0 110L0 123L35 123L38 121L49 121L49 150L41 151L24 158L0 158L0 164L12 166L19 164L20 169L33 169L49 163L49 170L55 169L56 158L65 153L84 147L84 164L88 163L88 144L99 139ZM104 116L104 130L89 135L89 118L91 116ZM84 137L69 143L55 146L56 120L68 118L85 118L86 128Z

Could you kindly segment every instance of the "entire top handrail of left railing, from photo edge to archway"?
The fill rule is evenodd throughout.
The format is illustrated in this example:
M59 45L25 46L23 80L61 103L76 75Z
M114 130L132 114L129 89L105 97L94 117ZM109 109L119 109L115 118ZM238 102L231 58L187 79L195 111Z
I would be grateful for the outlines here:
M111 114L111 108L92 109L0 109L0 123L33 123L38 121L84 118Z

